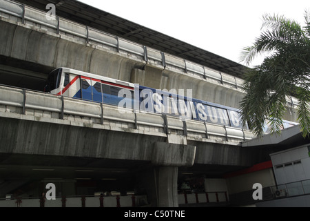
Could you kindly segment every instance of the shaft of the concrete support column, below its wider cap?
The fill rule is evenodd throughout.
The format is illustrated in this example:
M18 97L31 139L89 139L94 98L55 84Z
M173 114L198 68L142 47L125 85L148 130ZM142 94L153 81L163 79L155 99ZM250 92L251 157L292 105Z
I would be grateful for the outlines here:
M178 166L158 166L155 169L158 207L178 207Z

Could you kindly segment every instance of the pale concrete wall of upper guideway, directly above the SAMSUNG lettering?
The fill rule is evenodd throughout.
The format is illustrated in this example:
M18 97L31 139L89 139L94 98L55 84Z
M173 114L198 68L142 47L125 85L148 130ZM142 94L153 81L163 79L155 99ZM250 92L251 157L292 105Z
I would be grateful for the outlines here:
M176 70L177 71L177 70ZM132 83L162 89L192 89L192 95L196 99L222 104L238 108L243 93L234 86L225 86L216 80L201 79L200 77L185 75L152 66L145 66L145 70L134 69L132 71Z

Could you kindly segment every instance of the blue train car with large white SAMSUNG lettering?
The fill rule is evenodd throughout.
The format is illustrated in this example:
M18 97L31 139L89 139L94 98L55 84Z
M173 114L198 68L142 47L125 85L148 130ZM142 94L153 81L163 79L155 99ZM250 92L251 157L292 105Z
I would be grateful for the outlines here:
M153 99L145 98L145 93L143 93L145 90L149 94L147 97L152 97ZM211 124L242 128L238 109L187 97L184 95L185 91L182 91L182 95L178 95L163 90L139 86L139 94L140 111L165 113L176 115L183 119L193 119ZM145 104L145 99L147 99L147 105Z

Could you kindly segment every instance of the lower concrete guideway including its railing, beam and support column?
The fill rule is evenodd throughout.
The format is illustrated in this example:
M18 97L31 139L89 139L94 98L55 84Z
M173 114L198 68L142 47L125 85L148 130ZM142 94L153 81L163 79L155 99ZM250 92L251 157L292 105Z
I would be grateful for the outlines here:
M22 160L28 165L51 166L63 161L61 159L64 157L94 159L87 164L90 167L92 164L111 166L112 162L119 160L124 162L123 165L127 161L136 161L136 164L149 162L152 166L145 167L138 177L144 186L152 182L147 191L153 206L178 205L180 167L191 167L195 162L214 164L217 160L219 164L225 164L225 159L232 165L251 164L244 161L240 163L238 157L234 158L236 162L231 161L230 151L225 151L225 156L222 154L224 152L219 151L222 148L223 151L228 150L229 146L236 146L235 151L236 148L240 151L239 142L243 137L227 141L225 133L211 135L211 128L216 128L216 125L209 124L208 132L199 131L198 128L195 132L189 130L184 136L184 128L172 124L181 122L180 119L169 116L169 132L165 133L161 115L120 115L114 106L4 86L0 90L2 164L19 164ZM191 123L199 125L199 122L188 121L188 128ZM218 155L212 154L211 158L206 158L210 153L210 142L214 142L211 146L218 147ZM222 147L220 142L223 143ZM195 143L196 146L189 143ZM205 148L203 143L207 144ZM49 160L50 157L54 160Z

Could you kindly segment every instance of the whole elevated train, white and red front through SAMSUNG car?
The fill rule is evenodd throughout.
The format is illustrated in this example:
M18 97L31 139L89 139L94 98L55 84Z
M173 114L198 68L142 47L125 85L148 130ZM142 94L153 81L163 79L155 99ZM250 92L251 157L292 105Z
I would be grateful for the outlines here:
M53 70L48 76L45 92L114 106L121 104L122 108L165 113L183 119L242 128L240 111L236 108L71 68ZM296 125L287 121L283 121L283 124L285 128ZM265 126L265 132L269 132L267 126Z

